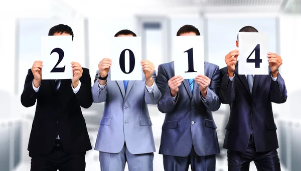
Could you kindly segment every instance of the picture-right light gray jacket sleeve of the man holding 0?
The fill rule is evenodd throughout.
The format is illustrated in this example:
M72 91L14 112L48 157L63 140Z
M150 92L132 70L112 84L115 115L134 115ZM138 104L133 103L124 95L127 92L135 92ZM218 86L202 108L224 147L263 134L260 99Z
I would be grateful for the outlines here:
M152 92L148 92L146 87L144 90L144 100L146 104L157 104L160 97L161 97L161 92L158 88L158 85L156 84L157 81L157 74L156 70L153 72L153 79L154 79L154 89Z

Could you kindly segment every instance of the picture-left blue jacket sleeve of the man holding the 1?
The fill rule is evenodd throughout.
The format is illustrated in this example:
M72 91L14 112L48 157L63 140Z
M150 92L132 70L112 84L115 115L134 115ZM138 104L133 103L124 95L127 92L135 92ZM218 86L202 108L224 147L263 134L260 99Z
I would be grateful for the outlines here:
M164 67L162 65L159 65L157 85L162 93L162 96L158 102L158 109L162 113L171 112L174 109L174 107L178 101L178 96L179 96L179 94L177 94L176 99L173 100L172 95L171 95L171 89L168 85L168 80L169 80L169 78L167 77Z

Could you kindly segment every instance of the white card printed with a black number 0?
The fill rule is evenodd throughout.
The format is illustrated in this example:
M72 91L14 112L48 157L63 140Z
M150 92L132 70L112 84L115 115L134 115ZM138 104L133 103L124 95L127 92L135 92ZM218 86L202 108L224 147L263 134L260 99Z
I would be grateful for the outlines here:
M141 80L141 37L113 37L111 80Z

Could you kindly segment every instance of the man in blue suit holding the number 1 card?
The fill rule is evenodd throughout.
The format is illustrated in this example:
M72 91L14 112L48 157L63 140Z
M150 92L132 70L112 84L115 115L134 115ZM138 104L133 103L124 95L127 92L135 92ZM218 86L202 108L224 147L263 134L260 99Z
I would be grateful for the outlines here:
M200 35L192 25L182 26L177 36ZM201 64L201 63L200 63ZM158 108L166 113L159 153L165 170L214 171L220 152L212 111L219 109L219 66L205 62L205 75L183 79L174 72L174 61L158 67L157 85L162 93Z

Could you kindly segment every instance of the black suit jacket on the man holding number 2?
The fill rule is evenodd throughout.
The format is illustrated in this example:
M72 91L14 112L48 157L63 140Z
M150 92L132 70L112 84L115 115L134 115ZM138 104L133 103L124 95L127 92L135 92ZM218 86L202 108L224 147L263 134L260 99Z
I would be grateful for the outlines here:
M33 89L33 79L29 69L21 95L25 107L35 105L37 101L28 150L37 154L49 153L58 134L67 153L92 149L81 111L81 106L88 108L93 102L89 69L83 68L77 93L73 92L71 79L62 79L58 91L55 80L43 79L38 92Z

